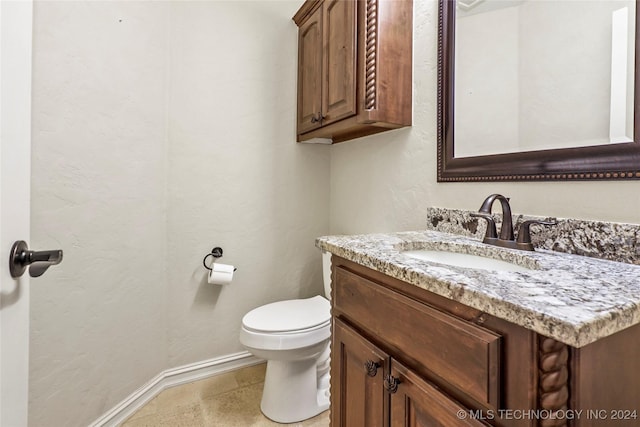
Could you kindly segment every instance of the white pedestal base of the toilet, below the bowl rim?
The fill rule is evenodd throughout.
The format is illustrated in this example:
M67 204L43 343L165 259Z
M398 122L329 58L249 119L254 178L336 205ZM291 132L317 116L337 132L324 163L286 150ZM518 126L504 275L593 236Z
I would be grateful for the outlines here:
M269 360L260 409L278 423L294 423L329 409L329 346L319 358Z

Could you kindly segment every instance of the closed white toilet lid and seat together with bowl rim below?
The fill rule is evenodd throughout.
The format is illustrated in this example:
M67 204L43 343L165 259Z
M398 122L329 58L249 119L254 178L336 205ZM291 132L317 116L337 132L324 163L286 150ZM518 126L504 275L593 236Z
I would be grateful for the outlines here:
M255 308L242 319L240 341L252 348L288 350L331 336L331 304L322 296L278 301Z

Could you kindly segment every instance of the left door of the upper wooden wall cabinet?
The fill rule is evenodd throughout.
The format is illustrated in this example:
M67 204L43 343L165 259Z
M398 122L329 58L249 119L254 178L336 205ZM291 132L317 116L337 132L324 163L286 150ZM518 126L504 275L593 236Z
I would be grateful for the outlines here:
M322 43L319 7L298 31L298 134L321 125Z

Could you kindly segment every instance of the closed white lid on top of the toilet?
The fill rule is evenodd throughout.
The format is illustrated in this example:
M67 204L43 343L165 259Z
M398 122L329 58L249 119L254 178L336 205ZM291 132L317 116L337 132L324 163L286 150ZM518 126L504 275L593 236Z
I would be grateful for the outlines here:
M293 332L311 329L331 320L331 304L320 295L278 301L245 314L242 324L256 332Z

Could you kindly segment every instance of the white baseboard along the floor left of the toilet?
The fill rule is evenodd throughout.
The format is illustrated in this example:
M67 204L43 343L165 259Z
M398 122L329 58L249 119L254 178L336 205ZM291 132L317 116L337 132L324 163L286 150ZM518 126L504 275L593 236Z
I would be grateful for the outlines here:
M235 369L257 365L262 362L262 359L258 359L251 353L243 351L192 363L190 365L167 369L117 404L113 409L102 415L90 424L89 427L118 426L163 390L223 374Z

